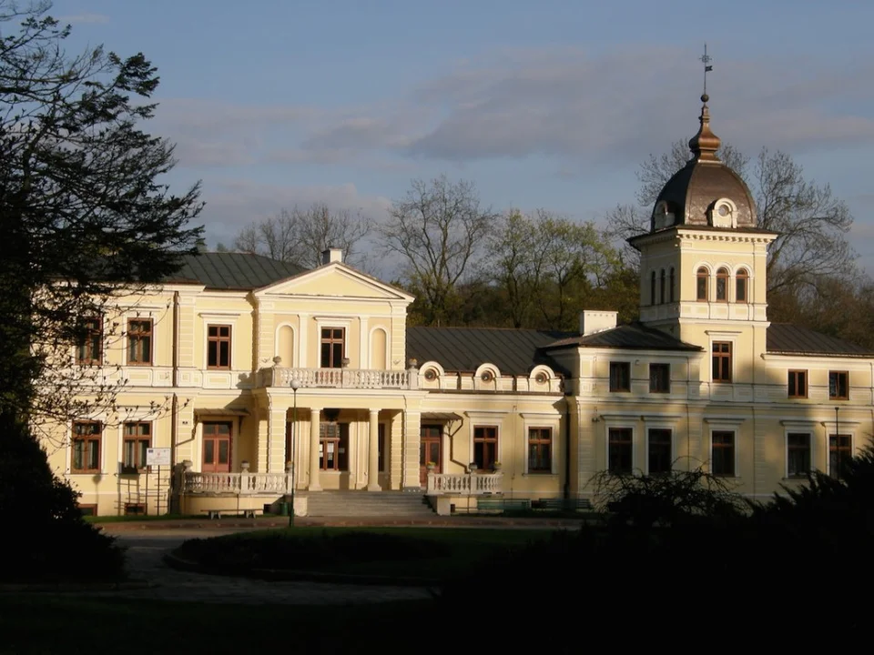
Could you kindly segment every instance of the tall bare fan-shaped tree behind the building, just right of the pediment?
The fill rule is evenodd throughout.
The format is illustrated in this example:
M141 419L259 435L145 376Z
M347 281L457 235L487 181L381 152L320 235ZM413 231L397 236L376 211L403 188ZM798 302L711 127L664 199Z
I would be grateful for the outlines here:
M430 183L413 180L407 195L392 205L379 228L381 246L387 255L401 256L427 325L451 317L456 287L473 270L496 218L491 207L480 206L473 182L446 176Z

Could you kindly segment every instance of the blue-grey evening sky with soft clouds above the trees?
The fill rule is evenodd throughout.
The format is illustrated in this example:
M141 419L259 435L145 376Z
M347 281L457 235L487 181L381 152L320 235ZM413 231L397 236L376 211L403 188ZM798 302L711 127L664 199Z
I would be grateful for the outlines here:
M856 218L874 273L874 3L55 0L70 46L158 66L150 127L202 180L208 243L319 201L380 219L414 178L599 220L697 128L781 149ZM379 272L379 271L377 271Z

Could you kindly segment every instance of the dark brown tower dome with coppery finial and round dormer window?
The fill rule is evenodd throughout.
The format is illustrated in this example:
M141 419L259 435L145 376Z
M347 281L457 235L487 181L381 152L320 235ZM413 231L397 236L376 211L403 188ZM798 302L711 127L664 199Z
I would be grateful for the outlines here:
M740 176L718 156L710 131L709 96L701 96L701 126L689 140L693 157L671 177L655 200L650 230L677 225L756 227L756 204Z

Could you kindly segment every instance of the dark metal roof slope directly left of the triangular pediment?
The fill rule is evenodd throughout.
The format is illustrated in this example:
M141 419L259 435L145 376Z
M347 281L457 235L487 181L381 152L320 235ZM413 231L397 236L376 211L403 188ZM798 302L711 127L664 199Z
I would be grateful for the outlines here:
M296 264L249 253L201 253L185 257L178 273L165 281L243 290L267 287L304 270Z

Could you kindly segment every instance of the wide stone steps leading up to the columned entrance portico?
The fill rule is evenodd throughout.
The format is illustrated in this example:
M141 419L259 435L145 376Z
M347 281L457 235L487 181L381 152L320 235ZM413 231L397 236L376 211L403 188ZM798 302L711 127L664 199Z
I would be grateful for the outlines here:
M434 517L424 494L411 491L317 491L307 497L307 514L311 517Z

